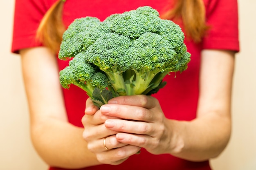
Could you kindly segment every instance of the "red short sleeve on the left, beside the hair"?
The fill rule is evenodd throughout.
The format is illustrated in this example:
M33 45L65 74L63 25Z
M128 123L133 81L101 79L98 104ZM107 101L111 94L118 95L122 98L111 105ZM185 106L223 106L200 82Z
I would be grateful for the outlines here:
M46 11L56 0L16 0L11 52L41 46L36 30Z

